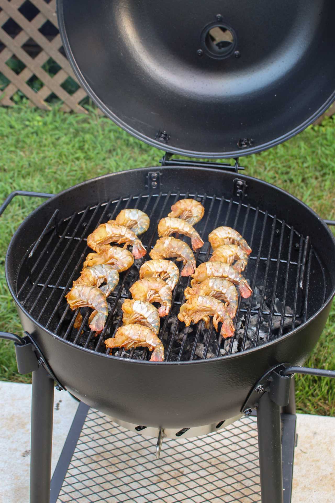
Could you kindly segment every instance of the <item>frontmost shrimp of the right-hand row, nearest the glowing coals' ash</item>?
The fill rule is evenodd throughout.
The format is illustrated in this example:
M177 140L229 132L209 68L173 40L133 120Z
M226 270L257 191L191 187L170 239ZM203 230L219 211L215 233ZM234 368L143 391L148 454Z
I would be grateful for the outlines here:
M189 326L191 321L197 323L203 319L209 328L209 316L213 316L213 325L217 331L217 323L222 321L221 336L225 339L234 336L235 327L232 318L222 302L208 295L191 295L185 304L180 306L179 321Z

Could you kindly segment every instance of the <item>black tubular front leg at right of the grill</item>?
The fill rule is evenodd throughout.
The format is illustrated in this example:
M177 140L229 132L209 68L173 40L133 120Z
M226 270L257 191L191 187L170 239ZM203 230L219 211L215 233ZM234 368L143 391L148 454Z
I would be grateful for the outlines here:
M257 407L262 503L283 503L280 406L266 392Z

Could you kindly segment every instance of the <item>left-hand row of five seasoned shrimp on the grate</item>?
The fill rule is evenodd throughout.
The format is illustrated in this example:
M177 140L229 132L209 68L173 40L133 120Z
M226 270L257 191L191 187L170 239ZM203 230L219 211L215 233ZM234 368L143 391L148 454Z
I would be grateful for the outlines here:
M87 245L94 250L83 264L80 277L73 282L65 298L72 310L89 307L93 312L88 324L96 333L103 329L108 316L108 295L119 284L122 273L132 267L134 259L146 254L146 249L138 235L150 225L146 213L137 209L122 210L115 220L100 224L88 237ZM109 243L124 244L124 247ZM131 245L132 253L127 249ZM103 283L105 285L101 286ZM74 328L82 325L82 315L78 312Z

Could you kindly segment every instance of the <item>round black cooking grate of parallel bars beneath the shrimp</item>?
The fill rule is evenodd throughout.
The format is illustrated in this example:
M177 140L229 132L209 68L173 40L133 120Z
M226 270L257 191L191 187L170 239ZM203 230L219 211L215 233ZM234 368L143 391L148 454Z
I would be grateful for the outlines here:
M183 291L190 278L180 277L173 291L170 315L161 319L159 337L165 347L166 361L186 361L222 357L257 347L280 338L308 319L324 302L320 281L325 286L322 265L308 236L258 207L240 200L216 195L162 193L141 194L89 206L58 221L55 211L39 239L32 245L20 267L17 295L22 306L45 328L81 347L105 352L104 340L112 337L122 323L121 300L129 297L129 287L138 279L140 266L150 260L149 251L158 238L157 224L171 205L180 198L193 197L205 207L196 229L205 241L195 257L197 265L210 257L208 233L218 225L236 228L247 239L253 252L244 276L254 293L239 301L234 320L235 336L222 341L212 323L206 330L203 322L185 328L176 317L184 301ZM141 236L147 256L121 274L120 284L110 295L109 315L100 336L87 328L89 310L83 308L82 325L73 328L76 312L70 311L64 295L81 271L91 251L87 235L99 223L113 219L124 208L138 208L150 216L151 225ZM185 238L187 240L187 238ZM318 288L313 288L318 285ZM321 291L325 292L325 288ZM314 298L315 297L315 298ZM83 333L82 333L83 332ZM107 350L109 354L110 350ZM113 350L113 356L148 360L147 349Z

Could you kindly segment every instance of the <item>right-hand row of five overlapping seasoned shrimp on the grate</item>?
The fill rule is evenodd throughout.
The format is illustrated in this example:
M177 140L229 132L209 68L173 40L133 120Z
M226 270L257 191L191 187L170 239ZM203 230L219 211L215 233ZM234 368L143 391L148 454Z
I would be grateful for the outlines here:
M241 296L248 298L252 289L242 276L248 264L251 248L239 232L231 227L217 227L208 235L213 248L209 262L204 262L192 274L191 287L184 291L186 302L181 305L178 319L186 326L204 320L209 328L210 316L221 336L233 337L233 319L238 308L238 286Z

